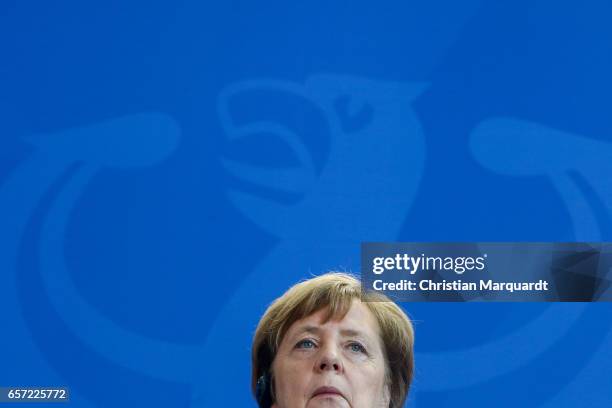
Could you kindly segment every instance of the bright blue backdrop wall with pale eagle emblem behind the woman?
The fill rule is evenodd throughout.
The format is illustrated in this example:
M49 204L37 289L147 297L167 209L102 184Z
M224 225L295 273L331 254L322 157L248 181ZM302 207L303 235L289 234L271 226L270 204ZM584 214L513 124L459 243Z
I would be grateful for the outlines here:
M361 241L612 240L605 1L0 4L0 384L254 406ZM609 407L609 304L403 304L408 407Z

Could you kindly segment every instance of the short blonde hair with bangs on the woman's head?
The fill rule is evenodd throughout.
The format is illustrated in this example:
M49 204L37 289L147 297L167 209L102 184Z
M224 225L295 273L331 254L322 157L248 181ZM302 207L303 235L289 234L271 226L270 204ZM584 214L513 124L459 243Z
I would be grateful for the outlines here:
M253 394L256 393L260 376L266 373L273 375L272 362L293 323L322 309L327 309L324 322L343 319L354 299L364 302L378 322L386 358L390 407L402 407L408 395L414 369L412 323L402 309L389 298L377 292L362 292L357 278L337 272L294 285L268 307L253 338Z

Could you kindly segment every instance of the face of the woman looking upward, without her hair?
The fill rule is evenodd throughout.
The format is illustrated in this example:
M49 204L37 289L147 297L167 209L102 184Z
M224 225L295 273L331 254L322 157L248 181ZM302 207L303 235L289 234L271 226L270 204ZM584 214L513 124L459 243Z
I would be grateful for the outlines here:
M326 310L296 321L272 364L274 408L388 408L385 357L372 312L355 300L342 320Z

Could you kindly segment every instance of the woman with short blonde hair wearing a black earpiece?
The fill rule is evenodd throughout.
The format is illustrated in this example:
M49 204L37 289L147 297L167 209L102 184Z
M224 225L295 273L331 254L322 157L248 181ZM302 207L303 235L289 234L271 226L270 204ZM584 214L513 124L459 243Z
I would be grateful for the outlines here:
M412 324L355 277L298 283L261 318L252 389L265 408L400 408L413 371Z

